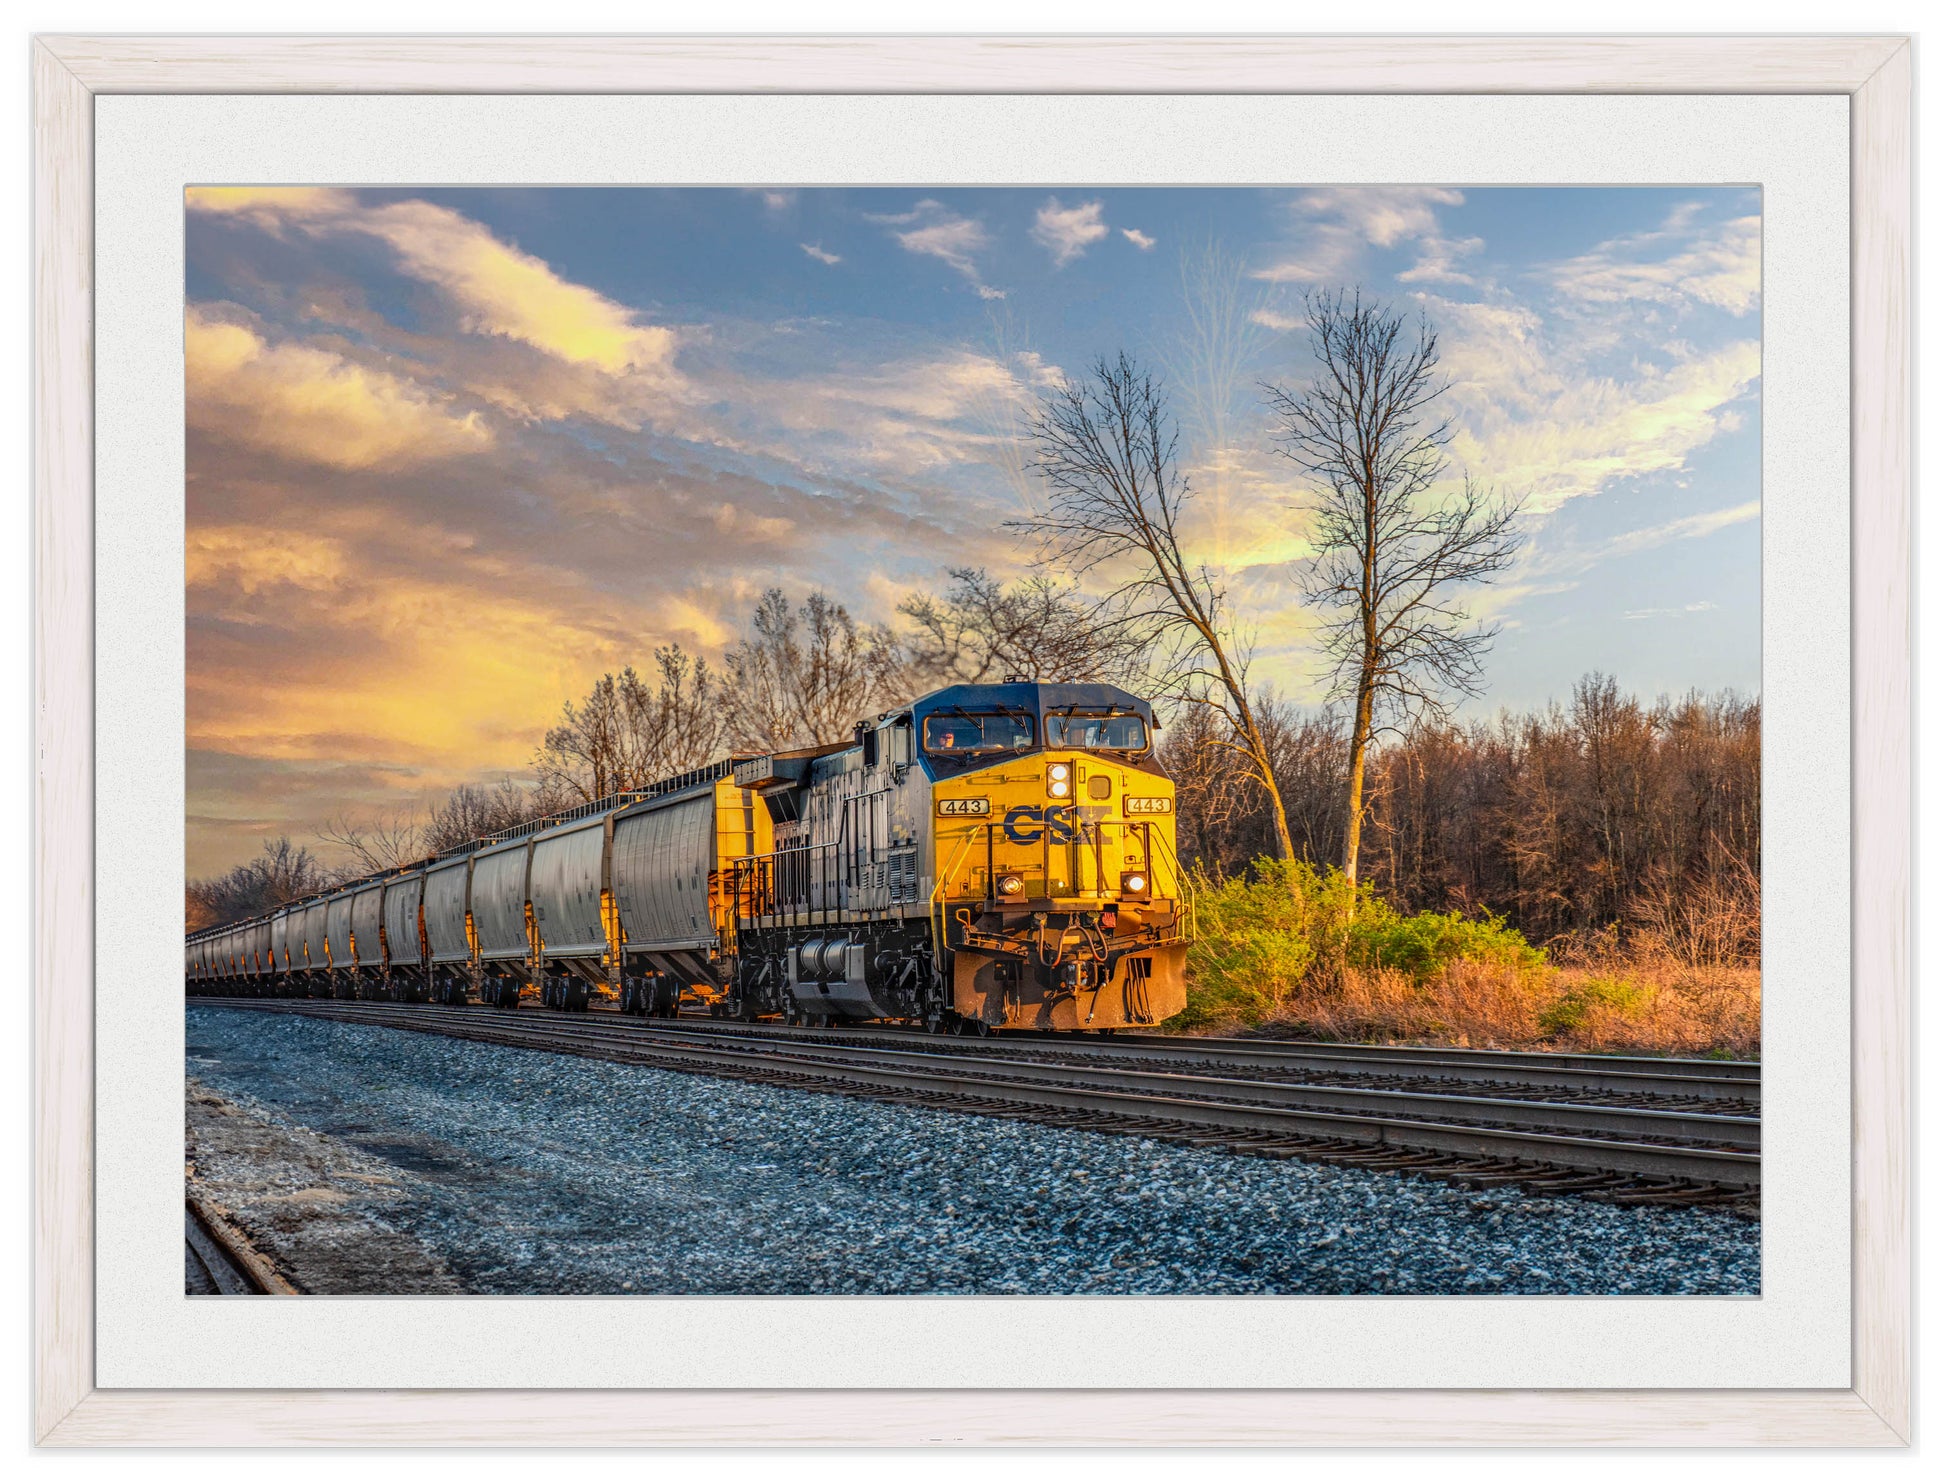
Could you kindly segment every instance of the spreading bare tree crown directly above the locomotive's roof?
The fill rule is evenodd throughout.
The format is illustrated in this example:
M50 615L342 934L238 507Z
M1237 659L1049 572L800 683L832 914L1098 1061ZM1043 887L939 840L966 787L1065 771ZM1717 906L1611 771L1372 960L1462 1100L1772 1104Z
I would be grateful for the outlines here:
M1140 668L1121 625L1103 621L1072 586L1029 576L1014 586L985 570L954 566L942 597L899 603L915 685L979 685L1020 675L1119 683Z

